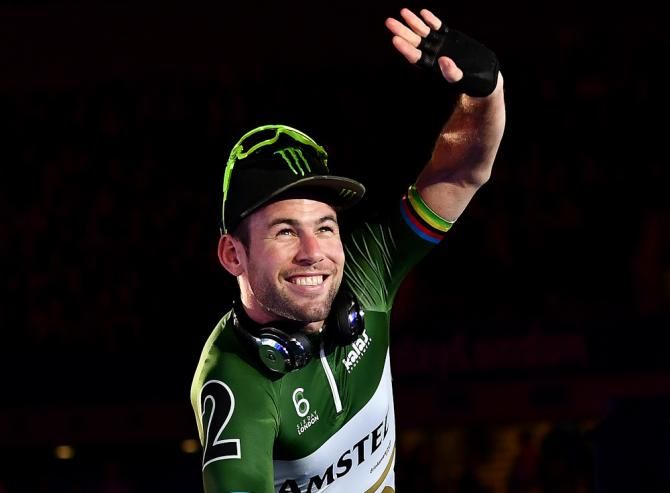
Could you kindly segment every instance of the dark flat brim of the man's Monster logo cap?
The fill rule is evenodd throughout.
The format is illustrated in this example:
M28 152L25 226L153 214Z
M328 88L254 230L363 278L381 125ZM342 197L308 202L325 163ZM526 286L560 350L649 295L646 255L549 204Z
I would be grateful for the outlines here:
M363 184L356 180L352 180L351 178L333 175L307 176L278 188L270 195L264 197L263 200L255 203L242 212L242 214L240 214L240 219L245 218L255 210L278 199L280 196L299 189L309 189L312 191L310 196L319 197L324 202L341 210L348 209L357 204L363 198L363 195L365 195L365 187ZM319 193L320 190L323 190L326 193L321 196Z

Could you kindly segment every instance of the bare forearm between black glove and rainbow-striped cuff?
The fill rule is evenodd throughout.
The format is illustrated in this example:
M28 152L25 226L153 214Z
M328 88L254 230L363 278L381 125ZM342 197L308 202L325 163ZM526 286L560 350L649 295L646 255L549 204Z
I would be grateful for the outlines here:
M462 94L440 131L416 186L426 204L454 221L488 181L505 128L502 75L485 98Z

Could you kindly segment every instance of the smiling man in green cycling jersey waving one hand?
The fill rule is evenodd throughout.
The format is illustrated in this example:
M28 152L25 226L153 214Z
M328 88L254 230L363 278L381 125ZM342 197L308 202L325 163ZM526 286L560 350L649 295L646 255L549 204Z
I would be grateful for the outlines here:
M462 94L383 221L340 235L365 189L299 130L259 127L230 154L218 255L239 297L191 389L207 493L395 490L391 305L488 180L505 124L495 55L427 10L401 17L397 51Z

